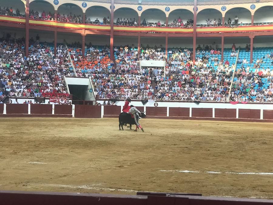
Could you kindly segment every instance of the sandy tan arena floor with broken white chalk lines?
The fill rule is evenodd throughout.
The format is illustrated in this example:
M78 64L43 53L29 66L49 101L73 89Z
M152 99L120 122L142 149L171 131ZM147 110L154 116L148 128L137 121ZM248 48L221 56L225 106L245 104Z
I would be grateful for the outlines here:
M272 123L141 125L144 133L119 131L112 118L2 118L0 190L273 198Z

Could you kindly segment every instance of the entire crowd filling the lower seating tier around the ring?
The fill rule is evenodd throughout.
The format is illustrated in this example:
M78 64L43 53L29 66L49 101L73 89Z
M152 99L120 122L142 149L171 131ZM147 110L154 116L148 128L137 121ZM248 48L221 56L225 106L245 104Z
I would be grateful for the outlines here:
M83 57L79 42L70 44L68 50L58 45L54 56L52 46L40 43L37 38L30 40L29 56L25 56L25 39L9 38L0 39L1 99L5 96L68 97L64 76L74 75L73 63L77 76L91 78L94 91L101 99L273 101L270 50L257 51L253 65L248 59L241 60L240 55L244 55L239 53L239 66L235 68L238 53L235 44L224 51L224 62L215 43L198 45L195 63L190 59L190 49L172 48L168 49L165 67L140 69L139 53L134 45L115 47L115 61L111 61L108 46L90 43ZM247 47L242 52L248 53ZM140 60L165 60L165 49L161 45L141 46L139 55Z

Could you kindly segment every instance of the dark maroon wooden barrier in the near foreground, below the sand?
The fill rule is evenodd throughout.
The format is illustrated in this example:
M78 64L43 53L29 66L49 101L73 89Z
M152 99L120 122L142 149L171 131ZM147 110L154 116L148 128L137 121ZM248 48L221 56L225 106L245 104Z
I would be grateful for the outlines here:
M185 193L137 193L137 195L26 192L0 190L0 204L50 205L269 205L273 200L187 195Z

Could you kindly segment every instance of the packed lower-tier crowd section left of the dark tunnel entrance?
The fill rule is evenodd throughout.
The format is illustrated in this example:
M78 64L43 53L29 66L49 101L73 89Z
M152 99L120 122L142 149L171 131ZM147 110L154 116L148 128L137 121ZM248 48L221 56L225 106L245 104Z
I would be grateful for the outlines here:
M8 97L68 97L64 76L72 73L63 46L53 56L47 43L34 42L25 56L25 39L0 39L2 95Z

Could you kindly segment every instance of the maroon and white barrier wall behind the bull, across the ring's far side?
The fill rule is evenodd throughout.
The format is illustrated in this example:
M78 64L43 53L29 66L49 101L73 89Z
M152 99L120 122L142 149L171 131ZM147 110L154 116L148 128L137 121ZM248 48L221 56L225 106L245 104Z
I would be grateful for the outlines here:
M0 117L75 117L117 118L124 101L118 105L61 105L61 104L0 104ZM273 104L230 104L193 102L153 102L153 106L141 106L132 101L147 118L201 119L225 121L273 122ZM166 106L167 105L167 106Z

